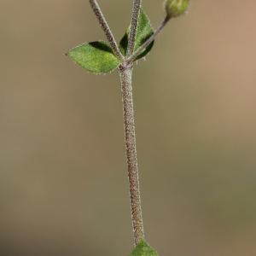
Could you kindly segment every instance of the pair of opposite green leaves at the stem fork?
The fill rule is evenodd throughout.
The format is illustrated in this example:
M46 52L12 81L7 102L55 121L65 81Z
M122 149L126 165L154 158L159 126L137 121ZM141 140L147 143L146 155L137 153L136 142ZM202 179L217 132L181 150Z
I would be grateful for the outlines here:
M125 56L128 46L129 31L127 29L125 36L119 43L119 49ZM154 33L154 29L150 24L148 16L143 9L140 11L137 38L135 41L135 50L138 49L150 36ZM143 58L152 49L154 42L144 49L141 55L137 56L137 60ZM110 45L105 41L96 41L70 49L67 55L80 67L83 67L91 73L109 73L119 67L121 60L113 54Z

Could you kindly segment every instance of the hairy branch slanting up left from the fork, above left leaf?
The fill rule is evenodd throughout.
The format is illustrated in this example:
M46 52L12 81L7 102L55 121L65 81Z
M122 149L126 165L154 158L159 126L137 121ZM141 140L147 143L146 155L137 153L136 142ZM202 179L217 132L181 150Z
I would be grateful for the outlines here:
M97 3L96 0L89 0L90 2L90 6L93 10L93 12L96 15L97 20L99 21L100 25L102 26L102 30L105 33L107 39L108 39L108 43L110 44L111 48L113 49L113 53L119 57L120 60L124 60L124 56L121 54L118 44L116 43L114 37L113 37L113 33L111 32L109 26L108 26L108 22L105 19L104 15L102 14L102 10L100 9L99 4Z

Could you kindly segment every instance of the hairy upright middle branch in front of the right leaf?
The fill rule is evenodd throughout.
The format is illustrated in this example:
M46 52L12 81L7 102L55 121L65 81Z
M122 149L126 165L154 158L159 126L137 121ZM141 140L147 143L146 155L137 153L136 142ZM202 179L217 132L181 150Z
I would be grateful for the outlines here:
M133 8L131 15L131 30L128 40L127 56L130 56L133 53L135 40L137 36L137 24L140 15L140 9L142 6L142 0L133 0Z

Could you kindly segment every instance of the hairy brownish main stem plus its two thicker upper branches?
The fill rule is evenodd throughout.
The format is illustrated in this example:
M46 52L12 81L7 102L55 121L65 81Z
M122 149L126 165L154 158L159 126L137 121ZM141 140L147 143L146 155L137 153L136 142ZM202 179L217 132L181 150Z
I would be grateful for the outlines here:
M137 148L135 134L135 119L132 98L132 65L127 65L124 56L121 54L118 44L116 43L113 33L111 32L108 22L102 14L99 4L96 0L89 0L90 6L93 9L97 20L102 26L102 30L108 38L108 42L113 49L113 53L119 57L123 64L119 67L119 74L122 86L123 110L124 110L124 126L125 126L125 148L127 157L128 177L130 184L130 199L131 199L131 220L134 233L134 241L137 245L144 240L143 231L143 212L140 197L139 177L137 168ZM137 35L137 22L141 9L142 0L133 1L133 10L131 17L131 32L128 42L128 55L134 51L134 44Z

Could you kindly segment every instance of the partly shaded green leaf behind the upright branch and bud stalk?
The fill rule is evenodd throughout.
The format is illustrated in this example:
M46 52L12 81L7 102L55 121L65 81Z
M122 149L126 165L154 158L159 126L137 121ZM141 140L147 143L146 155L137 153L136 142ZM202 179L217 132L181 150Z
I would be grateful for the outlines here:
M125 32L125 36L121 39L119 48L123 55L126 55L127 46L128 46L128 38L130 33L130 27ZM148 38L152 36L154 33L154 28L150 24L150 20L148 19L148 15L145 14L143 9L140 11L138 26L137 26L137 37L135 41L134 49L137 50ZM137 60L143 58L148 52L152 49L154 42L148 45L148 47L143 51L141 55L137 56Z

